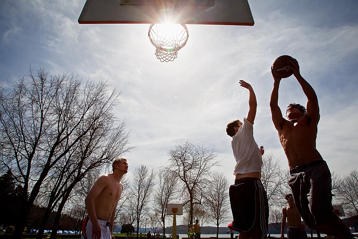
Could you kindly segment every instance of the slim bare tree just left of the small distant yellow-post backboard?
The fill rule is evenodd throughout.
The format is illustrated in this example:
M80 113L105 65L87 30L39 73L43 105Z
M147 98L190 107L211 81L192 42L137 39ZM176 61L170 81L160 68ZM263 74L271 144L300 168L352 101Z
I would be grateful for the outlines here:
M163 228L163 235L165 235L165 218L167 216L168 203L177 195L177 179L173 172L165 170L164 168L158 171L158 187L154 193L154 207L155 216Z

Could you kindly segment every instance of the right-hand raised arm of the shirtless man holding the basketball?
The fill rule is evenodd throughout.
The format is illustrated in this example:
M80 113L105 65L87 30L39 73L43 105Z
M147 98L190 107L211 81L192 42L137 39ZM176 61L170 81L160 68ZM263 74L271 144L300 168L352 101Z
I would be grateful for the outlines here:
M289 66L293 70L293 75L296 77L298 83L301 85L303 93L307 97L307 116L313 119L316 123L318 123L320 119L319 115L319 106L316 92L312 88L312 86L301 76L298 61L296 59L290 60L292 67Z

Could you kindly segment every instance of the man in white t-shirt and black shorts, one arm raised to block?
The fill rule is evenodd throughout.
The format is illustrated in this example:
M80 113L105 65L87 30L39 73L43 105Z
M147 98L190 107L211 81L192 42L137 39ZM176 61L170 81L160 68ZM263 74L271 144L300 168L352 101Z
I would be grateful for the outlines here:
M240 86L249 90L249 113L243 122L239 119L226 126L232 137L231 146L236 160L235 184L230 186L229 197L233 222L228 228L240 232L239 239L265 239L269 226L269 205L261 182L262 155L254 139L254 120L257 111L256 95L252 86L240 80ZM230 109L236 112L237 109Z

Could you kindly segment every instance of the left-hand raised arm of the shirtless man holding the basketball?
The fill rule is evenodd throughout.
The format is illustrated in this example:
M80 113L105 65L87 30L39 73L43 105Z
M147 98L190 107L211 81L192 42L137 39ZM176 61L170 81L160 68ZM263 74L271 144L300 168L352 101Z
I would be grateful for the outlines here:
M271 73L272 73L272 77L273 77L273 88L272 88L271 98L270 98L271 117L272 117L273 125L275 126L277 131L280 133L282 131L283 120L284 120L282 118L281 109L278 107L278 88L279 88L279 84L281 82L281 78L278 78L277 76L275 76L273 74L272 67L271 67Z

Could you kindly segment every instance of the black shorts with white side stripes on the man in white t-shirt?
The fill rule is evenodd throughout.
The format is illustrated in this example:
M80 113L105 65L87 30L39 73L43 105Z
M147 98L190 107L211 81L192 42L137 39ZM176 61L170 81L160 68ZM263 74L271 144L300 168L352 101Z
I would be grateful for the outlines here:
M235 231L246 233L257 227L267 235L269 204L265 187L258 178L240 178L229 189Z

